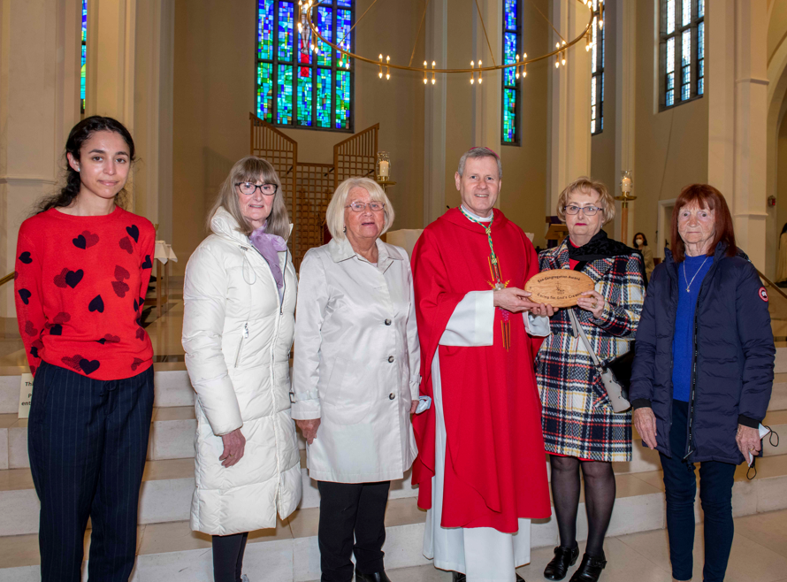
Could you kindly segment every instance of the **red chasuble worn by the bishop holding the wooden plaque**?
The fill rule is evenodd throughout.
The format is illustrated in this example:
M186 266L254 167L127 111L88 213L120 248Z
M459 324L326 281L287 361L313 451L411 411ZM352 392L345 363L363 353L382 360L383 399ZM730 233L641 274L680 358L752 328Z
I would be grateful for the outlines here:
M539 259L522 229L495 210L494 252L500 278L523 288L539 272ZM446 419L446 474L443 527L493 527L516 532L517 519L550 516L541 403L533 372L537 344L521 314L505 326L495 308L492 346L439 346L456 305L470 291L493 288L489 242L483 226L459 209L447 211L424 229L413 250L416 317L421 341L421 394L432 393L432 359L439 349L441 393ZM413 483L418 506L432 508L437 417L432 409L413 425L418 458Z

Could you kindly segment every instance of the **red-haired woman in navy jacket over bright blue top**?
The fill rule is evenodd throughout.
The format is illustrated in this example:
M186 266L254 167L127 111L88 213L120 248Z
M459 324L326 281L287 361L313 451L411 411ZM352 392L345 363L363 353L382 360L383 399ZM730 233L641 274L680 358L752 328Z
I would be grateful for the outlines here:
M694 463L705 512L706 582L723 580L732 546L736 465L760 451L774 379L768 294L737 250L732 218L711 186L684 188L672 252L653 271L637 332L634 425L661 456L672 576L691 579Z

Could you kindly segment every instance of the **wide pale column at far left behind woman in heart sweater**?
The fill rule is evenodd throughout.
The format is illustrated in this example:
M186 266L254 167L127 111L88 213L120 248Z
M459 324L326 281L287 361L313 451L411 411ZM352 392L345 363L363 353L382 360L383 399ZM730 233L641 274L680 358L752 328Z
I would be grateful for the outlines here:
M80 119L80 22L79 0L0 0L0 276L14 268L19 225L54 191ZM14 317L9 283L0 318Z

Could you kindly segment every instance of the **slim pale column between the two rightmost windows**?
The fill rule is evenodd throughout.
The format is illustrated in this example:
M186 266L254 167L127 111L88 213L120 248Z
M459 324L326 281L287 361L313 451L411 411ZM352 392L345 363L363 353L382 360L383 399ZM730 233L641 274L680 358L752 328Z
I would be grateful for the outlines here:
M634 169L635 87L637 82L637 3L615 2L615 182L610 194L620 195L619 177L623 170ZM637 195L637 176L634 192ZM637 203L629 203L628 238L634 233ZM615 203L615 215L621 217L621 203ZM615 239L621 240L620 218L615 219ZM630 241L623 241L630 244ZM658 245L657 245L658 248Z

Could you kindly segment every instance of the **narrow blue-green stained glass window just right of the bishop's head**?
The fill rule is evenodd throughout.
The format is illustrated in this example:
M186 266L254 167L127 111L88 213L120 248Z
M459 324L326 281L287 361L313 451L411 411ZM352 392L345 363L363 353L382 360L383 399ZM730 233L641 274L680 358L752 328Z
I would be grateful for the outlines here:
M519 18L519 0L503 2L503 64L516 63L521 53L522 23ZM521 83L519 67L503 69L502 74L502 138L507 145L519 145L522 139Z

